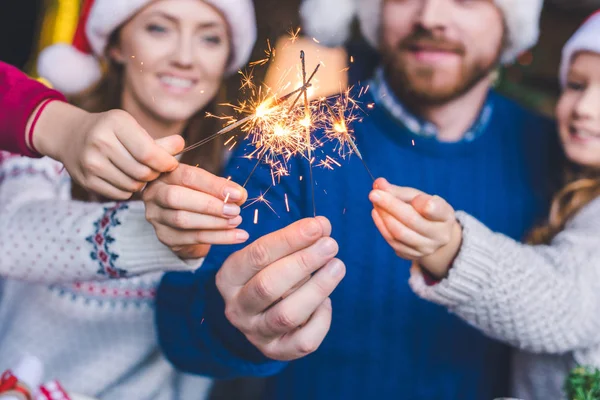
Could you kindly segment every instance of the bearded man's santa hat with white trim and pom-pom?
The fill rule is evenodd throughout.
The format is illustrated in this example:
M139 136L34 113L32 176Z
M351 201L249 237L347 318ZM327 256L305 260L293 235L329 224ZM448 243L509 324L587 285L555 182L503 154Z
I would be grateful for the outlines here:
M300 8L305 31L326 46L340 46L350 36L350 26L357 16L367 42L378 48L381 10L384 0L304 0ZM495 0L504 13L507 44L502 62L513 62L533 47L539 36L543 0Z

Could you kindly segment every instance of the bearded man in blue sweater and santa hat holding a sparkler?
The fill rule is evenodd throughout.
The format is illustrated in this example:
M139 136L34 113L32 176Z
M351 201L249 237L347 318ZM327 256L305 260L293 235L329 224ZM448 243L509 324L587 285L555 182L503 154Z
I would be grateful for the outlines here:
M555 135L549 121L494 92L492 73L536 42L541 0L345 7L352 2L308 0L303 15L311 35L339 44L357 12L382 56L361 99L368 115L354 124L373 174L439 194L521 238L545 211ZM256 162L243 152L226 172L238 182ZM248 192L270 188L276 211L263 203L242 211L241 228L256 240L214 248L195 274L163 280L157 317L169 359L217 378L276 374L266 399L507 395L508 349L411 292L410 263L371 219L370 176L356 156L340 164L313 168L311 181L308 162L291 160L290 176L275 186L268 168L256 171ZM298 221L313 214L313 188L323 217Z

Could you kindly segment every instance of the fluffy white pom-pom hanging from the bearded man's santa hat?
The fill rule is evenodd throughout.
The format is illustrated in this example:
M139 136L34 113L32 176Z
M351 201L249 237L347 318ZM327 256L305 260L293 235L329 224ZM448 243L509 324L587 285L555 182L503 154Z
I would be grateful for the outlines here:
M305 32L325 46L344 44L355 16L355 0L304 0L300 6Z

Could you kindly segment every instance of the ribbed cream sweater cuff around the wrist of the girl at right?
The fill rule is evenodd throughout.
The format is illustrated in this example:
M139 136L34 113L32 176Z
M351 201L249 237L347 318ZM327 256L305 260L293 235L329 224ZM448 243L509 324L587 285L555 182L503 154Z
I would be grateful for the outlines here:
M480 294L497 264L489 251L493 246L490 230L467 213L457 212L456 217L462 225L463 242L448 277L435 286L427 285L415 264L409 281L418 296L450 308L468 304Z

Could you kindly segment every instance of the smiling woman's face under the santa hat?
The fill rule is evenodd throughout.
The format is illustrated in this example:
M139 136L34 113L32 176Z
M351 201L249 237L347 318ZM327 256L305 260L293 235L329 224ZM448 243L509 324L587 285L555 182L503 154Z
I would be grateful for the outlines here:
M110 56L125 67L123 104L182 122L216 95L229 59L227 23L200 0L157 0L127 22Z

